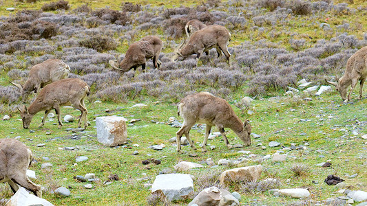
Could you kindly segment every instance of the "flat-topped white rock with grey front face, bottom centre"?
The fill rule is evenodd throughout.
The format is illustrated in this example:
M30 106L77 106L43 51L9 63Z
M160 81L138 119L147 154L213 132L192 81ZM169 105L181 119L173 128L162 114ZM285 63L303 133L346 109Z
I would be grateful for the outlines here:
M193 192L190 174L160 174L151 185L151 192L162 192L168 201L187 198Z

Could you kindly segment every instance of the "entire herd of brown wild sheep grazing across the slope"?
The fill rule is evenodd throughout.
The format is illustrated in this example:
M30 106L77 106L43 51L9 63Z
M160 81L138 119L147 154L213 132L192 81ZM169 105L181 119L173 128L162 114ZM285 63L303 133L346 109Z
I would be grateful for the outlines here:
M185 41L175 50L172 60L179 57L187 58L196 54L198 61L200 56L205 53L209 54L211 48L216 48L218 57L226 56L229 65L231 65L231 54L228 52L227 44L231 40L231 34L227 28L221 25L204 25L198 20L191 20L185 26L188 42L184 46ZM136 70L142 67L145 71L146 61L153 59L154 69L159 68L162 62L158 59L162 50L163 43L158 36L145 36L140 41L133 43L127 49L125 58L118 62L117 60L109 60L109 65L119 71ZM70 67L65 62L57 59L45 60L41 64L34 65L30 69L28 80L23 86L14 84L21 89L21 98L23 102L27 102L28 95L34 91L36 99L28 108L18 108L23 128L28 128L32 117L45 111L45 115L39 126L43 126L45 119L52 111L55 110L59 128L63 126L61 123L61 106L72 105L81 111L81 117L78 121L78 127L81 122L84 128L87 128L87 108L84 99L90 93L90 87L87 83L78 78L67 78ZM362 98L363 84L367 78L367 47L359 49L351 56L346 64L346 71L342 78L337 82L327 81L336 87L342 99L345 102L350 100L350 95L360 81L359 99ZM351 85L350 92L347 95L347 89ZM211 127L216 126L222 137L224 138L227 148L231 148L231 144L224 134L224 128L231 128L234 133L244 142L245 146L251 145L251 125L245 120L244 123L235 115L233 109L226 100L217 98L211 93L201 92L188 95L178 103L178 115L184 119L182 127L176 133L177 152L181 152L180 138L182 135L187 137L190 146L196 150L193 141L189 137L191 127L200 122L206 124L205 139L202 143L202 151L206 151L207 139L211 132ZM28 179L25 174L32 161L32 152L15 139L0 139L0 183L8 182L12 191L17 192L19 185L33 192L36 196L41 197L41 187L35 185Z

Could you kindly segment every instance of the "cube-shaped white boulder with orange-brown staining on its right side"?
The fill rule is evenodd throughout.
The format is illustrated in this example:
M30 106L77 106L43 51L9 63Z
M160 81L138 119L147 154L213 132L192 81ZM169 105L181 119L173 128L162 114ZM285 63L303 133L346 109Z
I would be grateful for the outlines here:
M127 127L124 117L97 117L97 139L105 146L118 146L127 142Z

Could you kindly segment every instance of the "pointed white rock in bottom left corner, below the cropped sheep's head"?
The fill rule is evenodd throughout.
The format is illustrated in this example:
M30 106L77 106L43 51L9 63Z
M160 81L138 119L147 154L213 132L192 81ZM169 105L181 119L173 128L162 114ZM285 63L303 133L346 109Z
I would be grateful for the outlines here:
M53 206L52 203L46 201L43 198L39 198L27 192L24 187L20 187L19 190L10 198L5 204L6 206L28 206L28 205L42 205Z

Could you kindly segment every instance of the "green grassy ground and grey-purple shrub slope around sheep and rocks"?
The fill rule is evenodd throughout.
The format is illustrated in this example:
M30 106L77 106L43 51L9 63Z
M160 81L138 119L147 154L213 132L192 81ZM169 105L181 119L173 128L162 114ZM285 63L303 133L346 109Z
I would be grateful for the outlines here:
M251 120L253 133L261 137L253 139L249 148L242 149L257 155L246 165L261 163L267 171L262 179L277 178L283 184L280 188L307 187L313 195L305 203L335 196L336 189L323 183L328 174L347 179L348 174L358 173L355 179L347 179L347 183L353 188L367 190L366 140L360 138L367 133L366 98L356 100L359 86L348 104L342 103L335 91L321 97L312 93L283 96L287 87L297 87L297 81L302 78L323 84L324 78L331 80L342 76L348 58L367 45L364 33L367 29L366 2L186 1L180 7L176 1L144 1L141 5L137 2L0 2L1 7L16 8L14 12L0 12L3 15L0 17L0 113L1 117L6 114L11 117L8 122L0 122L1 134L8 138L20 136L20 140L30 146L37 161L30 169L38 176L34 182L48 189L44 192L46 199L55 205L152 204L154 200L147 201L149 190L143 184L152 183L159 172L174 172L173 166L178 161L200 162L210 157L217 163L219 159L240 158L237 151L241 149L227 150L220 137L210 142L216 150L197 152L198 157L189 157L192 151L185 147L187 153L177 155L168 139L174 137L178 128L151 123L151 120L167 122L169 117L176 115L176 103L197 91L210 91L225 98L242 120ZM183 27L190 19L199 19L207 25L225 25L229 29L231 67L225 58L217 59L214 50L200 59L199 67L196 67L194 56L170 61L174 48L183 41ZM134 71L118 73L109 67L108 60L123 58L128 45L146 35L160 36L165 44L160 55L160 69L153 71L151 60L147 72L138 69L135 76ZM85 133L77 133L74 137L74 133L58 130L52 122L37 128L41 113L31 124L30 130L34 133L23 130L17 120L20 93L8 81L24 83L30 67L48 58L65 61L72 69L70 77L81 78L92 88L87 98L92 126ZM247 108L239 105L241 98L247 95L255 98L250 107L251 115ZM271 98L275 96L280 98ZM93 103L95 100L102 103ZM148 107L130 108L136 103ZM107 108L109 113L105 113ZM63 108L61 113L79 115L70 108ZM123 115L142 121L128 128L132 142L126 147L106 148L96 141L93 120L98 115ZM65 124L64 129L68 127L76 127L76 124ZM48 131L51 135L45 135ZM353 135L353 131L357 135ZM202 141L203 131L191 133L195 141ZM240 143L232 132L229 132L229 139L233 144ZM284 150L289 152L287 161L272 163L262 161L261 157L272 155L281 148L267 147L269 141L279 141L284 147L291 143L309 146L307 150ZM45 147L36 147L43 143ZM257 146L259 143L267 148L262 150ZM162 151L148 149L152 144L165 144L166 148ZM78 146L79 149L59 150L66 146ZM139 155L133 156L134 150L138 150ZM90 159L74 165L74 158L81 155ZM41 163L46 162L43 157L50 158L49 162L54 165L51 169L41 170ZM162 164L151 165L151 170L147 170L141 161L151 158L161 159ZM328 159L333 163L332 168L315 166ZM295 164L306 165L311 170L304 176L295 176L291 172ZM199 185L205 185L202 183L205 176L215 176L234 167L209 169L207 166L191 171L197 178L196 194L202 189ZM93 183L92 190L84 189L83 183L73 179L87 172L101 179ZM120 181L103 185L109 174L118 174ZM72 196L68 198L54 196L51 192L68 185L72 187ZM0 199L10 198L7 188L0 186ZM240 192L244 205L287 205L294 201L275 198L252 188L253 185L243 183L232 185L229 190Z

